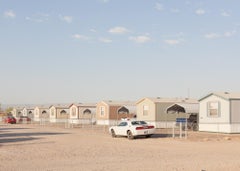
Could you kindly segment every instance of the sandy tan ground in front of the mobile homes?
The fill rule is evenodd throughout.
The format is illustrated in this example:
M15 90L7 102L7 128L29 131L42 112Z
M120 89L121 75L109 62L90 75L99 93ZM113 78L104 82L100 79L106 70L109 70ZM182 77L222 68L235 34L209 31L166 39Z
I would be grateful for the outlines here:
M189 132L180 139L170 133L128 140L103 127L0 125L0 170L240 170L240 135Z

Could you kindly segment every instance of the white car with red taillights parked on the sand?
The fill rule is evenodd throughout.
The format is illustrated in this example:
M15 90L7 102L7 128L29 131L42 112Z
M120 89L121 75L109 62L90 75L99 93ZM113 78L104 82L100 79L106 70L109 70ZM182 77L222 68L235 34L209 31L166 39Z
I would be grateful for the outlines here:
M109 128L109 133L112 137L127 136L128 139L134 139L136 136L146 136L148 138L154 132L154 126L147 124L145 121L125 120L121 121L117 126Z

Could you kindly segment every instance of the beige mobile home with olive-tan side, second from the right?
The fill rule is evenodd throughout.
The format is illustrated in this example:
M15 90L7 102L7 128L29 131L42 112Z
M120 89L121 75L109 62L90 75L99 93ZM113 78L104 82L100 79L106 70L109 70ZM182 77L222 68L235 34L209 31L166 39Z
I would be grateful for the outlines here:
M156 128L172 127L176 118L186 117L185 113L167 112L175 103L196 104L198 101L188 98L143 98L136 103L137 118L152 123Z

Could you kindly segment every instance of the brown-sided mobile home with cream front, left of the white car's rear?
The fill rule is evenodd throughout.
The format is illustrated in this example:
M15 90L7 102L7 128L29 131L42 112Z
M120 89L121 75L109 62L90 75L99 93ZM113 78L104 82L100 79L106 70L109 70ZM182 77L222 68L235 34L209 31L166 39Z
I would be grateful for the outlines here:
M115 125L122 118L135 118L135 102L101 101L97 103L96 119L98 125Z

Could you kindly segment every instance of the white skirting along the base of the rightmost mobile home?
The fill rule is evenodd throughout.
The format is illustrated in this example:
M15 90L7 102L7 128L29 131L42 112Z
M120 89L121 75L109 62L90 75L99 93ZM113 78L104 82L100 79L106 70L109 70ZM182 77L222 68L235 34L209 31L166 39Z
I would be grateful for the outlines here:
M199 123L199 131L219 133L240 133L240 123Z

